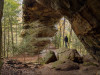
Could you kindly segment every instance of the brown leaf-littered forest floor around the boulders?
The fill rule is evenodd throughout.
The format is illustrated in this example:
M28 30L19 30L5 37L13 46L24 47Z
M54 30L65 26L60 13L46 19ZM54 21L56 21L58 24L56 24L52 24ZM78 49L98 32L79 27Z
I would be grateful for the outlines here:
M55 49L52 50L55 51ZM96 73L100 71L100 67L83 66L82 64L80 64L78 70L55 70L54 68L51 68L51 63L43 66L35 64L37 59L38 55L34 57L26 57L24 55L4 59L1 75L98 75Z

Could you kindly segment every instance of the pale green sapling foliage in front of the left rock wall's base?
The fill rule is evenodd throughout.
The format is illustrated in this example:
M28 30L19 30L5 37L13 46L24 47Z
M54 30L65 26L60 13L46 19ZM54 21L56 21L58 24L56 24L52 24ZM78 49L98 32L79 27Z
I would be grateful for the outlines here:
M17 53L22 54L24 52L27 52L33 56L35 54L35 50L34 50L35 46L33 46L33 44L32 44L32 39L34 39L34 38L31 35L26 36L21 41L20 45L18 45L18 49L17 49L18 52Z

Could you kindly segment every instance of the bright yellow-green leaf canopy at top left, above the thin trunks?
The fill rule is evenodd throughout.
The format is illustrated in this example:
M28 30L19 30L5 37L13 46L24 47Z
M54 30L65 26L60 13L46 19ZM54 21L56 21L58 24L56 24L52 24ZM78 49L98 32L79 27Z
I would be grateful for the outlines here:
M9 24L9 18L12 24L18 23L18 15L21 15L20 4L17 0L5 0L4 1L4 19ZM7 25L7 24L5 24Z

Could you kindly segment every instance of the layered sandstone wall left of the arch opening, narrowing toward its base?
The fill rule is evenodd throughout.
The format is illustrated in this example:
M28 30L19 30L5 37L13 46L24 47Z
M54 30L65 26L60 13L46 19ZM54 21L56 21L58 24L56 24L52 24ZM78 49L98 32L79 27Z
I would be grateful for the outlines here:
M59 22L62 15L52 9L40 5L36 0L23 1L23 32L24 39L29 42L26 46L33 46L33 52L42 50L48 43L50 37L56 33L55 24Z

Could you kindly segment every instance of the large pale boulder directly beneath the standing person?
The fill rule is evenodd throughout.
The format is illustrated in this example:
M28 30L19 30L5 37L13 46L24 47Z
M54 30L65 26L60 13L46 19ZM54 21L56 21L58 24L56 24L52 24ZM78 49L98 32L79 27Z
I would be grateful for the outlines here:
M83 63L83 58L75 49L61 48L58 50L58 59L65 61L67 59L72 60L77 63Z

